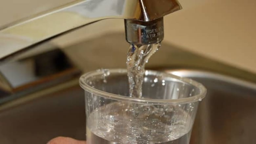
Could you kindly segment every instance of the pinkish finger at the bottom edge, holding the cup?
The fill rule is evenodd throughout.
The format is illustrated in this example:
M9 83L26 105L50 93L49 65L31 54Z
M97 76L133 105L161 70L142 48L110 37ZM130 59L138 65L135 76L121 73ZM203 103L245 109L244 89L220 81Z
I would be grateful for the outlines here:
M75 140L70 137L56 137L50 140L47 144L85 144L85 141Z

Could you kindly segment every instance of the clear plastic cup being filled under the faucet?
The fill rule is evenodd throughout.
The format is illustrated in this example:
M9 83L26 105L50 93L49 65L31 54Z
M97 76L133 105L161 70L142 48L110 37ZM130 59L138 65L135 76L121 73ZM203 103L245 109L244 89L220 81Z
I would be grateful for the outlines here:
M87 144L188 144L204 86L176 75L146 71L142 98L129 97L127 71L81 76Z

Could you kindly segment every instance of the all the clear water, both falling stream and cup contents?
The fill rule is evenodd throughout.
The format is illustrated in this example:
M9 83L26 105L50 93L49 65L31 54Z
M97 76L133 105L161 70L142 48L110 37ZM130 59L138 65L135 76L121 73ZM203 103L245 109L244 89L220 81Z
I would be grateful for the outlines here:
M130 97L143 98L145 64L159 48L160 43L130 46L126 61ZM86 125L88 144L188 144L193 121L180 105L117 101L96 108Z

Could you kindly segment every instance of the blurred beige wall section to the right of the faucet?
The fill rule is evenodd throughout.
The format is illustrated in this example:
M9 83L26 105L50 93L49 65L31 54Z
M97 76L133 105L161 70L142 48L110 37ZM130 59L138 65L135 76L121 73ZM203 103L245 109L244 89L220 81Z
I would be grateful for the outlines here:
M255 0L208 0L168 16L165 33L171 43L256 73L255 8Z

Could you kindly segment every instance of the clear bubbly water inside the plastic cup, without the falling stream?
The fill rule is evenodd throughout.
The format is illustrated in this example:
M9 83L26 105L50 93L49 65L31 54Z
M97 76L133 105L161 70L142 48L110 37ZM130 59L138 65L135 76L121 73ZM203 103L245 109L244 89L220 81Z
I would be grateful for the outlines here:
M89 143L186 144L192 120L179 106L114 102L96 109L87 123ZM175 114L175 116L173 115ZM187 121L191 121L187 123Z

